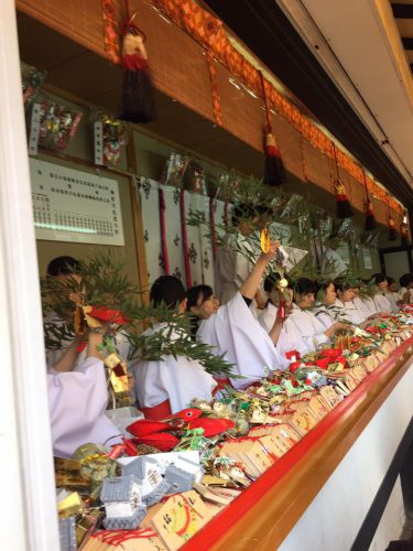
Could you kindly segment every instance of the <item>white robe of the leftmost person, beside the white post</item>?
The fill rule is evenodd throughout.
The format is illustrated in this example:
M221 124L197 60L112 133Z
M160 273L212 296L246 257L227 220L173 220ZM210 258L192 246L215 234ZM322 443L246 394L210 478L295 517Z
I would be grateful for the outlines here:
M119 430L106 417L108 390L104 363L87 358L77 371L47 374L53 453L70 457L83 444L117 444Z

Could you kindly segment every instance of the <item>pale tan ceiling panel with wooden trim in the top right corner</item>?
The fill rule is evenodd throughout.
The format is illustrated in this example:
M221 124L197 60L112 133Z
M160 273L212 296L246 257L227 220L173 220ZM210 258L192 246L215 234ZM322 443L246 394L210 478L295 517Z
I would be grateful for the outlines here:
M413 80L409 65L410 60L413 63L413 1L278 3L413 186ZM402 14L412 19L399 19ZM405 37L403 42L399 32Z

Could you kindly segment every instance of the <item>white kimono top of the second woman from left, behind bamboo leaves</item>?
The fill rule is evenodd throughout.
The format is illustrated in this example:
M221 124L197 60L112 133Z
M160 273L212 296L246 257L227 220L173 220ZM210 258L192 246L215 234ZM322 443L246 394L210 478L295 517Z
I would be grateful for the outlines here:
M148 329L144 335L162 331L163 324ZM172 334L171 338L178 338ZM194 398L211 400L217 382L204 367L184 356L165 356L160 361L138 361L131 367L134 377L134 393L143 408L154 408L170 400L172 413L188 407Z

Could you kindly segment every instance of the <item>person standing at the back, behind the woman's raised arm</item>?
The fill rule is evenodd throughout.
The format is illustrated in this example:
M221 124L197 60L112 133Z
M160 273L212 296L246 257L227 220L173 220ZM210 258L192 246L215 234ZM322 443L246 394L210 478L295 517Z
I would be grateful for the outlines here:
M214 274L216 294L221 304L232 299L252 269L254 251L247 237L253 230L254 216L256 213L248 207L235 207L232 225L238 231L226 234L218 248Z

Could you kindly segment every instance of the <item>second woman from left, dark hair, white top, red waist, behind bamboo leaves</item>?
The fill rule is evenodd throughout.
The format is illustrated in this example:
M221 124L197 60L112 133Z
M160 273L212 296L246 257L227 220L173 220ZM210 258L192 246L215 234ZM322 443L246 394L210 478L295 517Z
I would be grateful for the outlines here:
M173 276L159 278L151 288L150 298L154 306L166 305L185 312L185 290L181 281ZM144 335L166 332L169 338L180 338L166 324L157 323ZM131 370L134 377L134 392L145 417L164 419L171 413L187 408L193 398L211 399L217 383L211 375L195 360L184 356L165 356L161 360L138 361Z

